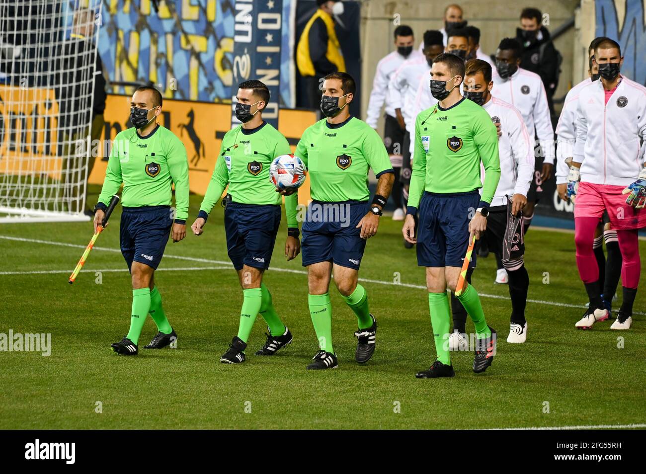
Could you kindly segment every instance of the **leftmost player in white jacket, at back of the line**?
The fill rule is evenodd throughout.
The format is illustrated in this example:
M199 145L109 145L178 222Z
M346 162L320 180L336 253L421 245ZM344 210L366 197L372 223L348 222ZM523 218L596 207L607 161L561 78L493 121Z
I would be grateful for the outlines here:
M404 123L402 123L401 114L397 114L391 97L388 95L388 84L395 74L395 71L401 67L407 59L414 60L422 58L423 55L418 51L413 51L415 38L410 26L400 25L395 28L395 51L383 57L377 63L375 79L373 79L372 90L370 92L370 101L368 101L368 110L366 112L366 123L373 129L377 129L377 120L381 114L382 107L386 106L386 116L384 123L384 145L390 156L390 163L395 170L395 183L391 197L395 203L395 212L393 220L403 220L404 211L402 206L402 187L399 181L399 174L402 166L402 150L404 146Z

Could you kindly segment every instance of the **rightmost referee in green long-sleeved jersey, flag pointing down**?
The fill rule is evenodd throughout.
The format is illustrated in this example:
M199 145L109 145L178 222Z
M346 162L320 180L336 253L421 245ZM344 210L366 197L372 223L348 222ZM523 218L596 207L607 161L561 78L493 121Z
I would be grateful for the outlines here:
M500 180L497 130L486 110L463 98L464 61L450 53L433 59L431 93L439 102L415 121L413 173L402 232L417 243L417 265L426 267L428 306L437 359L417 378L454 375L448 352L450 311L446 288L455 292L470 235L479 238ZM480 178L485 167L484 185ZM483 188L482 196L478 190ZM424 196L422 196L422 192ZM415 239L413 216L419 206ZM475 267L475 252L470 266ZM474 372L491 365L495 331L485 320L480 298L469 283L457 296L475 325Z

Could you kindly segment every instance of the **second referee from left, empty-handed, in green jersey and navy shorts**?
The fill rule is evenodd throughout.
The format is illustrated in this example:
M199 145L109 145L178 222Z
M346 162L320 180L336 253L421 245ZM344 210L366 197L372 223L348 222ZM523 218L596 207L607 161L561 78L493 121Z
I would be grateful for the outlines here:
M229 130L222 139L211 182L200 205L198 218L191 227L195 235L202 234L209 213L228 185L224 200L227 252L238 272L244 299L238 335L229 344L229 350L220 357L223 364L245 361L247 340L258 313L267 322L268 334L265 345L256 355L273 355L292 339L289 329L276 313L271 293L262 282L276 242L282 203L282 196L269 181L269 167L274 158L291 153L291 149L287 139L262 119L262 111L269 103L266 85L255 80L240 83L236 99L236 118L242 125ZM296 194L286 196L287 260L292 260L300 252L297 203Z

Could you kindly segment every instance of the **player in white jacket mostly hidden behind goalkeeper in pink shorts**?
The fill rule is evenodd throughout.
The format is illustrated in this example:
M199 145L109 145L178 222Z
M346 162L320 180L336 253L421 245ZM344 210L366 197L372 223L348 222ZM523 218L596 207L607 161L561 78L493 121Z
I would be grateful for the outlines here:
M567 196L570 168L572 169L572 180L578 181L578 167L581 166L581 163L570 163L570 167L568 167L566 160L572 160L572 155L574 154L574 141L576 139L575 121L579 94L584 87L599 79L598 65L594 61L594 46L601 39L605 39L605 37L596 37L590 43L588 48L588 74L590 77L587 77L587 79L584 79L568 91L563 102L563 108L561 109L561 116L556 125L556 189L559 197L563 201L570 200ZM574 197L572 198L572 203L574 203L573 200ZM604 241L608 252L607 257L603 254ZM594 251L594 257L597 260L597 266L599 267L599 288L603 289L601 299L608 311L612 311L612 297L617 290L621 273L621 251L619 249L617 231L610 228L607 214L604 214L603 220L599 220L594 233L592 249Z

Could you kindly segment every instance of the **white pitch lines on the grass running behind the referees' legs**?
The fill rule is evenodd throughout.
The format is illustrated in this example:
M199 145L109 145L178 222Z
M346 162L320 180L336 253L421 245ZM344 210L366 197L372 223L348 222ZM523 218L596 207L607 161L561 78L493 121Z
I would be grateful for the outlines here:
M28 238L22 238L22 237L10 237L10 236L3 236L0 235L0 239L5 239L5 240L15 240L17 242L30 242L30 243L43 243L45 245L59 245L61 247L73 247L74 249L85 249L85 245L78 245L76 243L65 243L65 242L52 242L50 240L39 240L39 239L28 239ZM94 250L99 250L99 251L107 251L107 252L117 252L121 253L119 249L111 249L109 247L94 247ZM220 269L229 269L233 268L233 265L231 262L224 262L222 260L210 260L208 258L196 258L196 257L186 257L186 256L179 256L179 255L169 255L169 254L164 254L163 258L176 258L178 260L188 260L189 262L202 262L202 263L215 263L216 265L225 265L223 268L211 268L213 270L220 270ZM206 268L195 268L196 270L202 270ZM163 270L163 268L160 268L159 270ZM171 269L167 269L171 270ZM192 269L185 269L185 271L191 271ZM271 267L270 269L272 272L284 272L284 273L296 273L296 274L302 274L306 275L307 271L304 270L294 270L294 269L287 269L287 268L277 268L277 267ZM87 271L100 271L100 270L87 270ZM113 270L117 271L117 270ZM34 271L34 272L0 272L0 275L7 275L7 274L43 274L43 273L71 273L71 270L54 270L54 271ZM359 278L360 282L365 282L365 283L374 283L375 285L390 285L390 286L401 286L404 288L415 288L415 289L426 289L426 285L415 285L413 283L395 283L395 282L388 282L388 281L382 281L382 280L370 280L370 278ZM499 294L486 294L486 293L479 293L479 296L483 298L492 298L494 300L508 300L509 296L500 296ZM550 305L550 306L559 306L559 307L567 307L567 308L585 308L587 307L587 304L570 304L570 303L559 303L555 301L543 301L543 300L527 300L528 303L536 303L536 304L545 304L545 305ZM641 316L646 315L646 313L641 313L639 311L633 311L633 314L640 314Z

